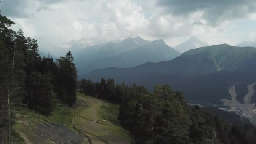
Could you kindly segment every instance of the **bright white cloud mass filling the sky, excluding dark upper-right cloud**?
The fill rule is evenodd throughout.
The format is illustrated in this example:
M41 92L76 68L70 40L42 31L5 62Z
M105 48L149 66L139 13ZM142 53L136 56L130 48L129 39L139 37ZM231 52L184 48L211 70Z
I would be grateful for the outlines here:
M18 0L21 3L21 0ZM162 38L171 46L178 45L191 36L209 44L238 43L232 27L239 21L228 18L216 25L209 24L205 11L176 15L163 13L165 8L157 6L157 0L24 0L19 9L22 15L9 17L16 22L14 29L23 29L26 36L39 41L40 47L56 51L55 47L72 47L102 43L107 40L122 40L141 36L147 40ZM2 8L2 7L0 7ZM12 7L10 7L12 8ZM232 10L233 10L232 6ZM222 10L222 9L221 9ZM239 14L225 11L218 19L245 15L248 8ZM9 11L11 12L11 11ZM13 11L15 12L15 11ZM209 12L209 11L208 11ZM216 12L217 13L217 12ZM255 13L248 15L255 21ZM243 27L241 27L243 29ZM238 34L239 35L239 34ZM239 35L239 37L248 37Z

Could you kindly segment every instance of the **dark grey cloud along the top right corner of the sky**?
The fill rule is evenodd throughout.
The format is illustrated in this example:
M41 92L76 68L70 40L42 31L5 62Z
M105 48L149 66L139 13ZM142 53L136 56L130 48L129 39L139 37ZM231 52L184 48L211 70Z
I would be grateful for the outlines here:
M158 0L165 14L188 16L202 11L202 18L209 24L221 21L247 18L256 12L255 0Z

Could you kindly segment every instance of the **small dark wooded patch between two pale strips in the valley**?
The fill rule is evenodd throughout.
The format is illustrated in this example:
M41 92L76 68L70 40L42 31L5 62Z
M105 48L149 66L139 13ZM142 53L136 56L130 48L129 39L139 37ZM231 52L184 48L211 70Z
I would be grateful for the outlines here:
M235 91L237 93L236 99L239 101L241 104L244 104L243 98L245 95L249 92L247 88L248 84L239 84L235 85Z

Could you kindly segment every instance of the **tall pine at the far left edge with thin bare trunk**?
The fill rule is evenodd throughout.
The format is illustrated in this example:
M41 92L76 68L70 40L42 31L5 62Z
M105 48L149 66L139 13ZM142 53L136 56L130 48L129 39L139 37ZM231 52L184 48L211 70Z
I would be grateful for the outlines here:
M13 101L16 80L13 67L14 40L16 33L10 29L13 21L0 14L0 135L1 141L11 143L11 122L13 121Z

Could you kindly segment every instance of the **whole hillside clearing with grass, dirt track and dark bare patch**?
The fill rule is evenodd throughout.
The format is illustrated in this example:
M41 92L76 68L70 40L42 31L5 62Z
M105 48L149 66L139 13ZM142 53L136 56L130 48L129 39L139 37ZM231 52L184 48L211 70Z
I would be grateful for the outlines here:
M14 128L27 144L130 144L128 132L119 126L118 109L116 104L77 93L73 107L55 106L49 117L27 108L16 111Z

